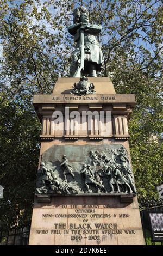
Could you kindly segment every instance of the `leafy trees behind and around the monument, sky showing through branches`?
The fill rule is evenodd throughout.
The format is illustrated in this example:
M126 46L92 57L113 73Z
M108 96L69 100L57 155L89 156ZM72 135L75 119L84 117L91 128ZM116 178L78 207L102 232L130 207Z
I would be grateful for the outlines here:
M49 94L57 77L67 76L73 40L67 32L73 9L84 5L90 22L103 27L98 40L103 76L117 93L134 93L130 148L139 198L156 197L162 181L162 34L163 5L154 0L2 0L1 200L3 224L27 223L33 202L39 128L33 94ZM24 212L20 210L24 210ZM19 216L21 215L21 216Z

